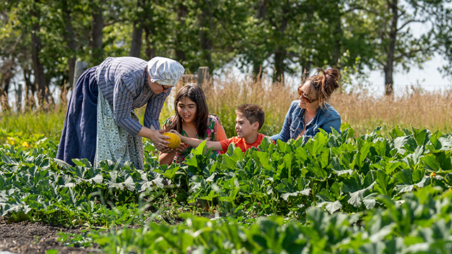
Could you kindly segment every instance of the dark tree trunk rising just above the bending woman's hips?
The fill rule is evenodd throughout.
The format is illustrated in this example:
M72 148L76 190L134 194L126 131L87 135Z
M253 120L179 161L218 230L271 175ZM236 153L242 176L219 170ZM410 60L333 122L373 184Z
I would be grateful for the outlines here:
M104 20L102 17L102 6L93 6L92 18L91 57L93 57L93 63L97 65L103 60L102 28L104 27Z

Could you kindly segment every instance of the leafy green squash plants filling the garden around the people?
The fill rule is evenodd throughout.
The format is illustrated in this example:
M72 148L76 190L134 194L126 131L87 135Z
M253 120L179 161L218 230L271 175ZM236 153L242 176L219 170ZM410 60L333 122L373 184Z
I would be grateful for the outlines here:
M452 248L446 191L452 186L452 135L379 131L355 138L343 125L343 133L319 133L305 144L263 140L259 150L230 147L225 155L200 145L182 167L160 166L145 142L143 170L109 161L95 168L85 159L71 167L54 159L57 144L44 137L3 132L0 214L11 222L133 225L140 228L90 237L105 248L142 253L162 253L168 245L171 253ZM119 238L129 240L122 246ZM408 248L420 243L428 244Z

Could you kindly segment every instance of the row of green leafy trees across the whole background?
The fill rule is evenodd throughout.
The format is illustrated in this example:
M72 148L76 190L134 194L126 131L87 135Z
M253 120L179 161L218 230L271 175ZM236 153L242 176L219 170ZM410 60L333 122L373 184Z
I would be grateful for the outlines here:
M20 75L42 103L50 84L73 84L77 59L95 66L107 56L167 56L190 73L235 61L254 75L270 67L278 83L317 67L369 66L384 71L390 95L395 66L420 66L435 52L452 63L450 2L6 0L0 4L0 95ZM414 36L410 23L430 29Z

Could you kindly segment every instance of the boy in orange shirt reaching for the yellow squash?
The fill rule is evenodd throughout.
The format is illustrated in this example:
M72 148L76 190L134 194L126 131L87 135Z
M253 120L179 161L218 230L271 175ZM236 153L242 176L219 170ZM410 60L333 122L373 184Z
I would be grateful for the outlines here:
M235 131L237 131L237 136L221 141L207 140L207 148L213 147L214 151L226 152L230 143L234 143L235 147L240 147L242 152L245 152L249 148L258 147L261 144L263 137L266 136L258 133L266 118L262 107L257 104L242 104L237 107L235 114ZM177 133L176 131L173 132ZM182 143L191 145L192 147L197 147L204 141L182 136L179 133L177 135L181 138Z

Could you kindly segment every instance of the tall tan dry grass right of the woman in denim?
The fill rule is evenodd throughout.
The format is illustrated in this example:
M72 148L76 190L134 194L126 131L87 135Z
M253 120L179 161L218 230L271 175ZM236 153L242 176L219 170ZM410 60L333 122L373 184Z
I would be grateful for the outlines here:
M357 135L364 135L381 126L391 131L395 126L422 128L451 133L452 90L428 92L410 88L392 98L369 93L333 95L333 107L342 121L350 124Z

